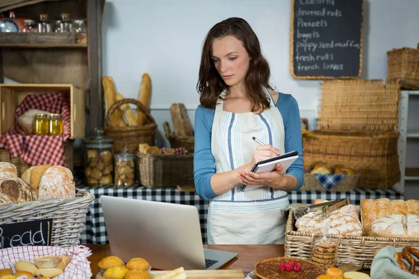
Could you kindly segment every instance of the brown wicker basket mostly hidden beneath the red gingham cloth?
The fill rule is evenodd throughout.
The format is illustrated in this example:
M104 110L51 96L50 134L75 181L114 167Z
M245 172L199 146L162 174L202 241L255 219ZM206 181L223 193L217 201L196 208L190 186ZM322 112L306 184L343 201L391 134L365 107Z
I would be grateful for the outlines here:
M66 163L66 168L70 169L73 172L74 162L73 162L73 140L67 140L64 142L64 158ZM17 176L22 176L23 172L31 165L26 163L22 158L16 157L11 158L9 151L6 149L0 149L0 162L12 163L16 166Z

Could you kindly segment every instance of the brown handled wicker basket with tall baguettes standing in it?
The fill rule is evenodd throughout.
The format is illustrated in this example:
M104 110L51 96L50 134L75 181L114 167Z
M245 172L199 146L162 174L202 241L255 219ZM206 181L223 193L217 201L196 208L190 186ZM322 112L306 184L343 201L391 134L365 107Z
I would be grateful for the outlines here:
M113 151L119 153L124 147L128 153L135 153L138 144L154 145L157 124L152 114L149 113L148 101L151 90L149 75L142 75L138 100L124 98L115 91L112 77L102 78L105 94L105 135L114 142ZM137 107L134 112L130 104Z

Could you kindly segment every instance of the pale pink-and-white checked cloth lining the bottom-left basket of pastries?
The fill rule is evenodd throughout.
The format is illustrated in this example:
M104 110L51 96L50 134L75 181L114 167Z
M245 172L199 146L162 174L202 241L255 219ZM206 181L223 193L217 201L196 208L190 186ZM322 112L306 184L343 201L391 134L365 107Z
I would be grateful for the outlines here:
M0 249L0 269L13 269L15 272L15 262L23 260L32 263L36 257L61 257L70 256L70 263L64 269L64 273L55 277L57 279L89 279L92 276L90 262L87 257L91 255L91 250L86 246L78 245L71 247L59 246L20 246L13 248ZM26 276L18 278L27 278Z

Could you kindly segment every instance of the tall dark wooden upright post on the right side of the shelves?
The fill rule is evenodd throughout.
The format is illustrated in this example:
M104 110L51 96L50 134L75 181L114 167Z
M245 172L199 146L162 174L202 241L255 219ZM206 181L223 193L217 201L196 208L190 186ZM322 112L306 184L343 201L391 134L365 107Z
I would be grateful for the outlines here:
M90 73L89 130L103 127L102 87L102 5L101 0L87 1L87 48Z

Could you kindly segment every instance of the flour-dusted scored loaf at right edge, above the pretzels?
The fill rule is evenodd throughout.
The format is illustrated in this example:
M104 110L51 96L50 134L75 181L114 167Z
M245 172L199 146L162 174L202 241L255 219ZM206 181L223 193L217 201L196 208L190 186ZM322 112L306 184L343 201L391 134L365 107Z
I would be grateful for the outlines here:
M419 238L419 216L395 214L378 218L372 223L371 232L380 237Z

